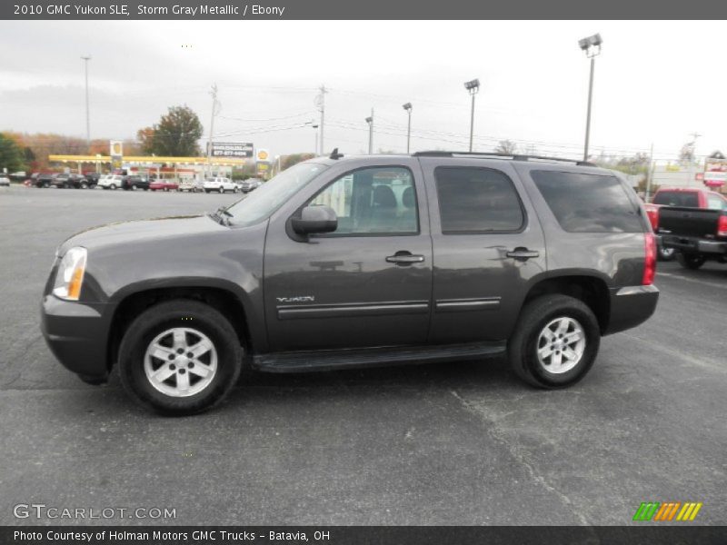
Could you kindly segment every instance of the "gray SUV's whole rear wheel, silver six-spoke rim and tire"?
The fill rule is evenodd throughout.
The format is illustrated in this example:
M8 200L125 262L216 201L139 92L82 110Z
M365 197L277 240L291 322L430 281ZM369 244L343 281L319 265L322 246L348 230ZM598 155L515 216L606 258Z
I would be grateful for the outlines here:
M508 342L511 367L539 388L564 388L593 366L601 330L593 311L567 295L543 295L528 302Z

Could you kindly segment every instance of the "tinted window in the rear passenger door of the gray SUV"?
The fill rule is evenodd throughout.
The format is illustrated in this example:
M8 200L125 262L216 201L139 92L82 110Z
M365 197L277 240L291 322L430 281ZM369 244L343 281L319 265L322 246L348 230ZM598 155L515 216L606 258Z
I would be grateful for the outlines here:
M513 182L490 168L440 166L434 170L442 233L519 231L523 207Z

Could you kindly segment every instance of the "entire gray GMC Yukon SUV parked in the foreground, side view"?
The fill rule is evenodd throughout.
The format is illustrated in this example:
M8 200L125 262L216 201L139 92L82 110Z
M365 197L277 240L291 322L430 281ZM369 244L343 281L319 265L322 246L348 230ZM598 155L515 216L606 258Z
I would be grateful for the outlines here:
M245 366L304 372L507 353L544 388L652 315L653 234L587 163L443 152L299 163L217 213L118 223L58 248L55 356L167 414Z

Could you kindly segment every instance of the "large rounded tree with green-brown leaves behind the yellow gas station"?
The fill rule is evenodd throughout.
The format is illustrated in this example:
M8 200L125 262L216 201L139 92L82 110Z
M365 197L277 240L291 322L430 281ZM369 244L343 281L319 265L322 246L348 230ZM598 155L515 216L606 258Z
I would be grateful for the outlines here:
M194 156L200 153L197 141L202 138L202 123L189 106L172 106L154 127L136 134L147 154Z

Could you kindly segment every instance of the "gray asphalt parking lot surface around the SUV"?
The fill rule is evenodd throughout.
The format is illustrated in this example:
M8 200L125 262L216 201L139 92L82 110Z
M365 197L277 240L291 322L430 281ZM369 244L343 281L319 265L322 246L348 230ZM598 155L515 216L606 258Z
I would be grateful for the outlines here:
M55 247L92 225L234 194L0 188L0 524L628 524L642 501L727 523L727 265L661 263L652 320L537 391L503 361L244 377L193 418L87 386L39 330ZM175 520L18 520L17 503L175 508Z

